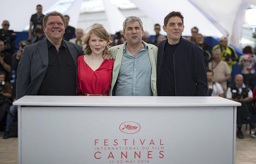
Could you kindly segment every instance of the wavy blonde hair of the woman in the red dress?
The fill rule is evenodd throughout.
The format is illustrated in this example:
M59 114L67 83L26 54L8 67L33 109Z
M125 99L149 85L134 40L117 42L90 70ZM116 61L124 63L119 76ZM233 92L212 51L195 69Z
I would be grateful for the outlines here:
M81 38L82 44L83 44L83 53L85 55L90 55L92 53L92 50L89 46L89 39L90 39L92 34L95 34L99 38L102 38L104 41L106 41L106 47L103 51L103 54L104 53L110 53L108 49L110 47L109 44L112 43L111 37L102 25L100 25L100 24L92 25L92 26L89 27L89 31L85 32L85 33L86 34L83 35L83 37Z

